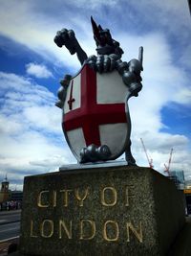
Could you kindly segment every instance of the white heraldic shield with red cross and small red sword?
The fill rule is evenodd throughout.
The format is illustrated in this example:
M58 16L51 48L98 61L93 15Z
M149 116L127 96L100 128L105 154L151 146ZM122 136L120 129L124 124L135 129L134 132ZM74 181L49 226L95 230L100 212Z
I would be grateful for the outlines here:
M85 64L71 78L62 128L78 162L85 162L87 151L93 162L116 159L125 151L131 132L129 96L128 87L116 70L99 74ZM102 158L96 158L98 153Z

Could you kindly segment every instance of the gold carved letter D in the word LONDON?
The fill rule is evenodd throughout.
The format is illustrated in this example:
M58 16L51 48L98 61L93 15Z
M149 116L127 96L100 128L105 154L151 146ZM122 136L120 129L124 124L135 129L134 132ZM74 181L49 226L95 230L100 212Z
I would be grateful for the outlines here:
M91 232L89 229L88 232L84 234L84 229L85 229L84 227L85 226L88 227L88 225L91 227ZM79 223L79 230L80 230L80 235L79 235L80 240L92 240L96 235L96 223L95 221L81 220Z

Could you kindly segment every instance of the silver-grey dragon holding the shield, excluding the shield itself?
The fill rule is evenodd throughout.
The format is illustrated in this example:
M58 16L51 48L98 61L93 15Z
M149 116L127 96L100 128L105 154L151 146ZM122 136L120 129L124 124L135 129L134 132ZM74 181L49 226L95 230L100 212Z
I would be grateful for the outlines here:
M120 48L119 42L112 37L108 29L102 29L100 25L97 26L92 16L91 22L96 41L97 56L87 56L75 38L73 30L62 29L61 31L58 31L54 37L55 44L58 47L65 46L71 55L76 54L82 66L88 64L99 74L110 73L117 70L123 83L127 86L130 92L130 97L137 97L138 92L142 88L140 72L143 70L143 48L141 46L139 47L138 59L133 58L129 62L122 61L121 57L124 52ZM58 90L58 102L56 103L56 105L60 108L63 108L66 99L67 86L71 78L72 77L70 75L66 75L64 80L60 81L61 87ZM89 146L87 149L83 149L81 151L82 163L100 160L99 157L91 158L91 154L93 155L92 151L98 155L97 151L101 151L101 148L98 149L95 148L95 146ZM103 151L106 153L106 155L110 154L109 149L105 148ZM136 165L136 160L131 153L131 140L129 140L129 143L126 145L125 156L129 165Z

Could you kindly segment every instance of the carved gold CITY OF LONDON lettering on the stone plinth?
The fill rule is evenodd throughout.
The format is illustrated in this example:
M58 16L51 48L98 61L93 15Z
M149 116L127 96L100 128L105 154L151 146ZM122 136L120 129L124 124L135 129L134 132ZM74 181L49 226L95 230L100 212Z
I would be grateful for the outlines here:
M135 221L126 214L134 207L134 189L133 185L109 185L41 190L33 198L40 218L31 217L30 237L71 241L93 241L98 237L99 242L106 243L143 243L141 216ZM59 215L54 218L57 208Z

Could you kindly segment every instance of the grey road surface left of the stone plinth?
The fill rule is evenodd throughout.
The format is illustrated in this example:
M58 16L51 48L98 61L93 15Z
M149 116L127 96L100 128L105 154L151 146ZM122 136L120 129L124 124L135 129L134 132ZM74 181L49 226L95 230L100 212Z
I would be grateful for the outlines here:
M0 212L0 256L7 255L10 244L18 244L21 211Z

